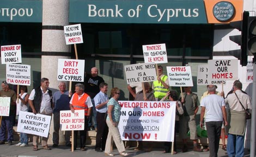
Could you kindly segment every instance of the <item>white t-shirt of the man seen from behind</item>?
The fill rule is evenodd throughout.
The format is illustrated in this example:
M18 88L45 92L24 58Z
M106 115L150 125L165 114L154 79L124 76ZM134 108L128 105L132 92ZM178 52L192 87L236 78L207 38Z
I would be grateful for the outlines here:
M202 99L200 106L205 107L207 113L205 122L223 121L222 106L225 106L223 97L210 94Z

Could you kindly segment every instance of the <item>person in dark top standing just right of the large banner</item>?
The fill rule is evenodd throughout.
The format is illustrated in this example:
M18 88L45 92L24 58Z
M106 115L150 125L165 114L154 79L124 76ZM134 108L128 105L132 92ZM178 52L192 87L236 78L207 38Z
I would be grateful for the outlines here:
M197 125L196 115L198 106L200 105L197 94L192 93L192 87L184 87L185 92L182 93L183 99L180 100L184 106L184 115L180 116L179 134L182 139L182 152L187 152L187 125L190 128L190 139L193 140L193 151L202 152L203 150L197 147Z

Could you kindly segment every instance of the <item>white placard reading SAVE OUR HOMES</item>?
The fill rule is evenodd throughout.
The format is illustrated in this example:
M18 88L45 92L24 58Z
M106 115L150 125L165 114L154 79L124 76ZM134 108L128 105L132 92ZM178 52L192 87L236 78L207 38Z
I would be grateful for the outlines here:
M237 60L208 60L209 79L211 81L237 80Z

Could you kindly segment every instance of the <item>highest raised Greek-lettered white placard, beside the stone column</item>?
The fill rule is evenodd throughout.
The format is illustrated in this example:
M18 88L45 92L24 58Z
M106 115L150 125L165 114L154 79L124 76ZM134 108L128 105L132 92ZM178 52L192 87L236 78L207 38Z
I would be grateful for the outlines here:
M83 43L81 24L64 26L64 34L67 45Z

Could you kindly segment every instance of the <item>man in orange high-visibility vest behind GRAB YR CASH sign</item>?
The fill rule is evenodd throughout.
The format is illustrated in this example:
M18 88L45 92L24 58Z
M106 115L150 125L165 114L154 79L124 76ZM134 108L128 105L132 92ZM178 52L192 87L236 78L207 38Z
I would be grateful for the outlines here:
M77 83L75 86L76 93L72 95L70 100L70 110L72 113L75 113L75 110L84 110L84 130L80 131L80 143L81 151L86 151L86 136L87 136L87 127L88 127L88 117L92 112L92 101L90 96L84 93L84 86L81 83ZM78 130L74 130L74 150L77 148L77 134Z

